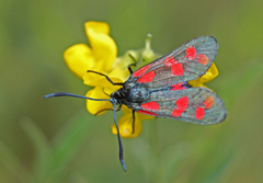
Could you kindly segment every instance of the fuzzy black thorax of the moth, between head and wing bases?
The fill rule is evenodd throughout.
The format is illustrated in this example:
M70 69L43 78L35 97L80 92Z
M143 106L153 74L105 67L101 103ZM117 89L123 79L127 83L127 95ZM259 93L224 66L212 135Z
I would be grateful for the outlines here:
M133 88L127 90L128 102L142 102L149 99L150 93L146 88Z

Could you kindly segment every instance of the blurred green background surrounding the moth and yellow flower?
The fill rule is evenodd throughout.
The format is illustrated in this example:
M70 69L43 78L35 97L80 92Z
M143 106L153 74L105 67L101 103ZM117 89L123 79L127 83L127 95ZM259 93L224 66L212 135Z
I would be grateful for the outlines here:
M0 0L0 182L262 182L262 10L260 0ZM145 122L138 138L123 139L125 173L112 112L91 116L84 100L42 99L90 89L62 58L89 44L87 21L110 24L118 56L144 47L148 33L160 54L217 37L219 76L207 85L226 102L227 119Z

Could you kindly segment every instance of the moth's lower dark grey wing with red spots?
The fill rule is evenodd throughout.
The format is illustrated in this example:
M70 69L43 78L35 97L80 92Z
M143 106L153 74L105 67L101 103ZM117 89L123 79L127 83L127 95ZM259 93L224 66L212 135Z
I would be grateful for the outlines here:
M220 123L227 115L222 100L204 87L151 91L149 100L129 103L128 107L142 114L202 125Z

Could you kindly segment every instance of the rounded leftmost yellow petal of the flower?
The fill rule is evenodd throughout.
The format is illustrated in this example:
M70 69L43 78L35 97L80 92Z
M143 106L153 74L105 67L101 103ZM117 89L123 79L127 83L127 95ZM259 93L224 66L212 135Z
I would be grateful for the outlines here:
M64 59L69 69L80 78L95 65L92 50L84 44L68 48L64 53Z

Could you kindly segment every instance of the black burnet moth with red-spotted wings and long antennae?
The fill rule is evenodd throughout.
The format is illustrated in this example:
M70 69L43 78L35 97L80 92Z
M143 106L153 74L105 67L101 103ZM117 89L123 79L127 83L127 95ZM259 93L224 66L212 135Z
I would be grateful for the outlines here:
M126 171L115 113L123 104L133 110L134 119L135 112L202 125L217 124L226 118L225 103L213 90L188 84L188 81L206 73L217 55L217 39L213 36L194 38L135 72L130 68L135 65L130 65L130 77L124 83L114 83L107 76L89 70L105 77L113 85L123 87L113 92L111 99L91 99L65 92L47 94L44 98L75 96L110 101L113 104L117 129L119 160ZM116 108L116 105L119 107Z

